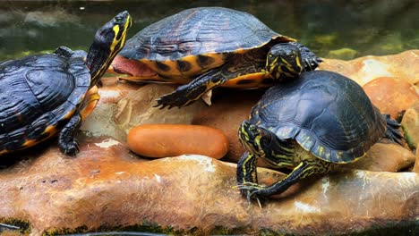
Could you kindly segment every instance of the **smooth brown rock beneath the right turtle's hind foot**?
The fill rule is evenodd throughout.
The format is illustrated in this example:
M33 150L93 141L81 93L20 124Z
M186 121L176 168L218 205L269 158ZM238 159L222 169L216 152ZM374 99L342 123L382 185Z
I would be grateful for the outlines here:
M376 143L367 156L343 168L368 170L372 172L399 172L415 164L415 155L406 147L393 143Z

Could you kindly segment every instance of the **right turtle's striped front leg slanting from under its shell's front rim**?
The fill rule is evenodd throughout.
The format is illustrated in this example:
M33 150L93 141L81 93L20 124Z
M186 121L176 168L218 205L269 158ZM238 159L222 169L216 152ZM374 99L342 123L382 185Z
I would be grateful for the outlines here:
M248 186L242 187L242 190L248 190L250 196L248 198L268 197L277 195L289 187L294 185L296 182L303 180L312 174L328 173L332 167L332 164L322 161L321 159L313 159L312 161L304 160L298 164L293 172L289 173L284 179L270 185L254 185L249 184Z

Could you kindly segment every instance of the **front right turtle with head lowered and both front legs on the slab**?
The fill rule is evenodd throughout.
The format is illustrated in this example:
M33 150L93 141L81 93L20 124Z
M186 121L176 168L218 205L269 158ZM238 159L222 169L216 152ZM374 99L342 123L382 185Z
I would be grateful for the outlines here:
M337 72L303 72L269 88L238 137L245 148L236 179L244 197L268 198L312 174L355 162L381 138L403 144L400 124L381 114L362 87ZM258 184L256 160L290 168L286 178Z

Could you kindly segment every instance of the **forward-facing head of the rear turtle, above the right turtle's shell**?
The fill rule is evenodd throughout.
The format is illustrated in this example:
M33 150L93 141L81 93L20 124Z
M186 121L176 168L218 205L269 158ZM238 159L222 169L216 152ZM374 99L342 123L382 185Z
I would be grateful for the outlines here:
M304 70L300 49L290 43L272 46L266 61L266 72L274 80L292 80Z

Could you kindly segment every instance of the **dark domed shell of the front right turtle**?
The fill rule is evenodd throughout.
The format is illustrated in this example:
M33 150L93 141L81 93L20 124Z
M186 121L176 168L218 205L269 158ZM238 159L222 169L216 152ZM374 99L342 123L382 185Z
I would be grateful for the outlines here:
M336 72L304 72L267 90L250 122L295 141L325 161L349 163L386 131L385 118L355 81Z

